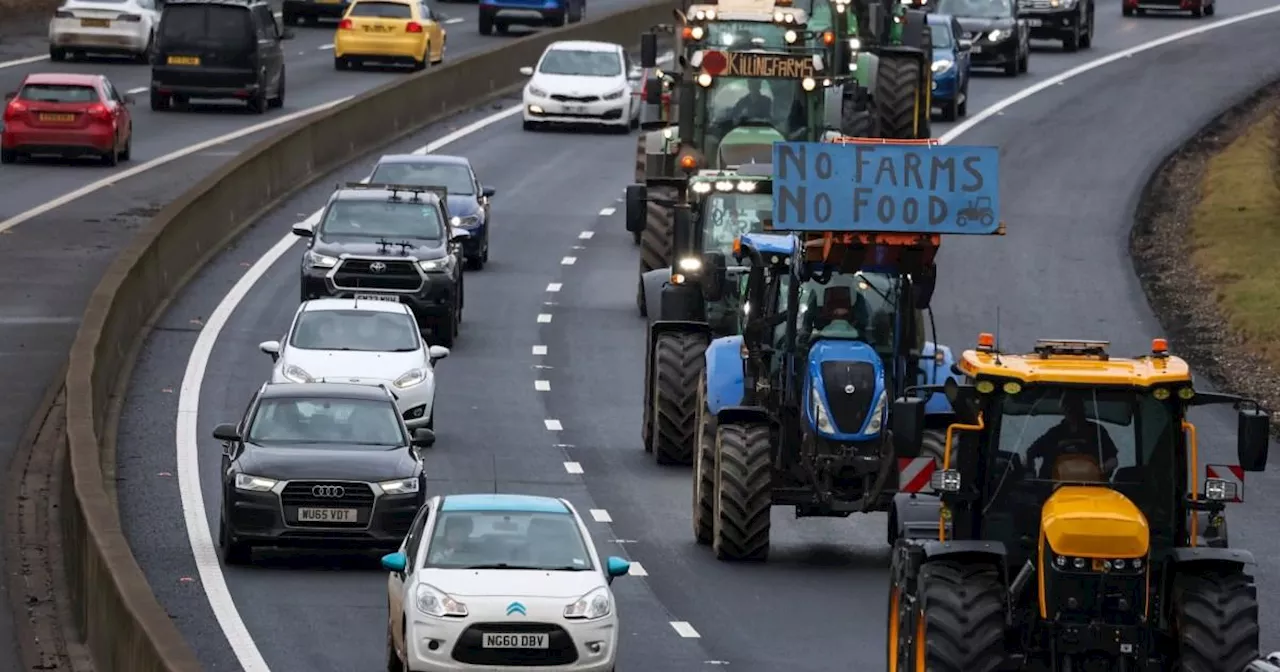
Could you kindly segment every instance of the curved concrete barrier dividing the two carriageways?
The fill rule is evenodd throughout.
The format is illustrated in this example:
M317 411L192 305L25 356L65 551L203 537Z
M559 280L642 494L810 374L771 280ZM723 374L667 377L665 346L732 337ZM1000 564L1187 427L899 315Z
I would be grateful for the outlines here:
M68 364L63 548L76 626L99 672L200 669L160 607L120 530L101 466L142 339L174 293L261 214L338 166L524 83L556 40L636 44L669 20L673 1L512 40L317 111L250 147L161 210L111 264L90 298ZM284 307L282 307L284 310ZM156 449L170 449L163 445Z

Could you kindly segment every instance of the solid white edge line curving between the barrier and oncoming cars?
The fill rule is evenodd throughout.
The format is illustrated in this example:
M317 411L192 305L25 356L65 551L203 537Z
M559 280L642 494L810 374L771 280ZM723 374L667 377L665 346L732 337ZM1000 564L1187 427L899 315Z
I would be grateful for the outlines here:
M337 105L346 100L347 99L334 101L315 109ZM273 125L280 124L301 116L307 111L310 110L291 114L282 119L273 119L270 123ZM503 119L520 114L520 111L521 108L516 106L479 119L439 140L435 140L425 147L421 147L421 151L416 154L436 151L440 147L457 142L458 140L502 122ZM250 128L239 134L253 131L256 129ZM234 137L239 137L239 134L233 133ZM200 151L202 148L205 147L197 145L189 151ZM123 173L122 175L113 178L113 182L114 179L123 179ZM35 215L29 215L26 219L29 219L31 216ZM319 219L319 211L311 216ZM0 227L3 227L3 224L0 224ZM262 659L262 652L259 650L257 644L253 641L253 636L250 634L243 618L241 618L239 611L236 608L236 602L232 599L230 590L227 588L227 577L223 575L223 567L218 561L218 549L214 547L212 535L209 530L209 518L205 513L205 494L200 483L200 388L205 380L205 371L209 367L209 360L212 356L214 346L218 343L218 338L221 335L223 329L227 328L227 323L230 320L232 314L236 312L236 307L244 301L244 297L253 291L253 285L256 285L262 276L271 270L271 266L293 248L296 242L297 237L293 236L292 232L282 237L270 250L266 251L265 255L262 255L261 259L253 262L253 265L244 271L244 275L241 276L230 291L227 292L227 296L223 297L223 301L216 308L214 308L214 312L205 323L205 328L196 338L196 344L191 348L191 357L187 360L187 371L183 375L182 388L178 394L175 452L178 457L178 488L182 492L182 511L183 520L187 525L187 539L191 544L191 553L196 559L196 570L200 572L200 581L204 585L205 595L209 598L209 607L218 618L218 625L223 628L223 635L230 644L232 653L236 654L236 659L244 672L270 672L270 668L266 666L266 660ZM556 424L559 425L558 421Z

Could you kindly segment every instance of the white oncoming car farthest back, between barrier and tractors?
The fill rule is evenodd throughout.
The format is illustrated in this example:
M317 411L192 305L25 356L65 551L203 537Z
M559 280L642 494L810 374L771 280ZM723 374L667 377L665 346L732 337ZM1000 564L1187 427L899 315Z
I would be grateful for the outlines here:
M598 124L622 132L640 123L641 101L632 95L640 69L622 45L612 42L553 42L525 67L525 131L548 123Z

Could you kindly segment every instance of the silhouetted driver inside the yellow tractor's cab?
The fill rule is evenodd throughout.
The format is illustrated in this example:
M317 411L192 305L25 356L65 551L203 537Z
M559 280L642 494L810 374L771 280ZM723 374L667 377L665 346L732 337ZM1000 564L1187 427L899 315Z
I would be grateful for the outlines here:
M1041 460L1038 479L1101 481L1115 471L1117 456L1107 430L1085 413L1084 398L1069 392L1062 398L1062 421L1027 448L1027 467L1034 468Z

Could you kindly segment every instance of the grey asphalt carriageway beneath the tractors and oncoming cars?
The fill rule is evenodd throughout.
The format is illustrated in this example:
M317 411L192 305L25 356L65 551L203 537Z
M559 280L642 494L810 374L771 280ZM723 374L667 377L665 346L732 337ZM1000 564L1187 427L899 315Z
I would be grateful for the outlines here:
M1221 5L1220 18L1262 6ZM1088 60L1206 23L1121 19L1110 3L1098 22L1092 51L1038 51L1028 77L975 79L972 113ZM1161 334L1126 255L1137 193L1169 150L1280 76L1280 65L1257 58L1277 27L1277 18L1258 18L1120 59L1050 86L960 137L1001 147L1010 233L945 244L940 264L951 280L934 301L940 339L968 347L978 332L993 329L998 306L1009 347L1079 337L1110 339L1116 352L1143 352ZM645 570L614 582L625 632L620 669L878 668L887 588L882 516L795 521L777 509L769 562L722 564L691 539L687 468L659 468L639 447L644 323L634 307L636 250L618 211L632 147L630 137L525 133L517 120L506 120L442 150L468 156L498 196L493 261L467 275L463 332L438 370L431 489L554 493L582 511L605 512L594 525L602 550ZM370 163L325 183L362 177ZM174 305L132 381L120 429L122 515L161 602L210 669L238 666L204 586L192 580L174 479L175 393L202 324L192 320L209 316L244 268L326 193L315 188L285 204L210 266ZM239 305L209 361L198 431L211 526L220 449L207 431L239 417L269 372L256 346L287 328L296 306L296 253L282 257ZM544 346L545 356L531 355L535 346ZM538 392L535 380L548 381L549 390ZM1234 419L1203 413L1197 421L1201 449L1233 461ZM566 462L582 474L570 474ZM1268 492L1274 481L1272 474L1252 477L1248 493ZM1280 577L1275 538L1263 527L1275 520L1274 508L1254 497L1231 518L1236 545L1252 547L1260 558L1262 594ZM275 556L224 575L238 617L273 672L381 664L385 576L376 561ZM1280 628L1263 609L1263 646L1280 646Z

